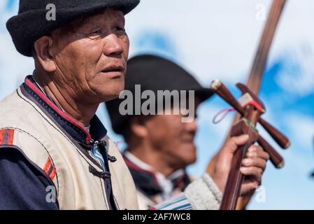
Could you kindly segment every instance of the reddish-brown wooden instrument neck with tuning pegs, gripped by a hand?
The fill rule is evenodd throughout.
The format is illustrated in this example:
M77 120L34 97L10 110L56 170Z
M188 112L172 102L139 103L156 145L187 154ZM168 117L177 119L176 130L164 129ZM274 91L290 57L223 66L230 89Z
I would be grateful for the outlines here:
M276 150L261 136L256 129L257 123L268 132L277 144L286 149L290 146L290 141L281 132L276 130L272 125L262 118L262 114L266 112L264 104L261 100L246 86L241 83L237 87L242 92L242 97L237 101L229 92L227 87L220 82L214 80L211 89L218 94L225 102L230 104L239 115L240 120L231 127L231 137L236 137L241 134L248 134L249 140L243 146L240 146L234 153L231 162L231 169L224 188L224 195L222 197L221 210L234 210L238 197L240 197L240 190L244 181L244 176L240 172L242 160L245 158L248 148L257 142L266 153L269 153L271 162L276 168L282 168L284 165L283 158L276 152Z

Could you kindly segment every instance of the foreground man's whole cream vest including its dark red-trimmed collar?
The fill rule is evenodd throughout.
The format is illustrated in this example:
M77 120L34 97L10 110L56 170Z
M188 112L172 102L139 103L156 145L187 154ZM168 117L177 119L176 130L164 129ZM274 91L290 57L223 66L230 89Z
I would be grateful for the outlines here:
M138 209L129 169L99 119L92 119L87 132L29 78L0 102L0 134L0 145L20 151L47 175L60 209ZM97 142L106 172L90 154Z

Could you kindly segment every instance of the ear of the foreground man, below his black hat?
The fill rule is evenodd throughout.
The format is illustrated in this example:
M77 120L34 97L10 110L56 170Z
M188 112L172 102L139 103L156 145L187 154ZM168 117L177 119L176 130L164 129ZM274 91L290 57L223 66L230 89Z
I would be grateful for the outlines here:
M34 50L36 52L36 59L45 71L53 72L56 70L55 59L51 55L52 37L42 36L34 43Z

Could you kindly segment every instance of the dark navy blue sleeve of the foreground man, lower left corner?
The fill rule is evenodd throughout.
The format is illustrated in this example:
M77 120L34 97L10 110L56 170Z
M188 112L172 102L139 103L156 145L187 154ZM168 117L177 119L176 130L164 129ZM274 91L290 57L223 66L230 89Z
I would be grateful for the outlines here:
M0 147L0 209L59 209L46 200L48 177L29 162L20 151ZM48 188L49 189L49 188Z

